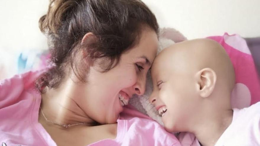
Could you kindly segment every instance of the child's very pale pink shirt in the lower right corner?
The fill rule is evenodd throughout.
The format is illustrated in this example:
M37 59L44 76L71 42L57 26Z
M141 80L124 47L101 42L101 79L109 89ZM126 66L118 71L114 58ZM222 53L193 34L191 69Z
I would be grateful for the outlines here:
M233 109L230 126L220 136L215 146L259 146L260 102L244 109Z

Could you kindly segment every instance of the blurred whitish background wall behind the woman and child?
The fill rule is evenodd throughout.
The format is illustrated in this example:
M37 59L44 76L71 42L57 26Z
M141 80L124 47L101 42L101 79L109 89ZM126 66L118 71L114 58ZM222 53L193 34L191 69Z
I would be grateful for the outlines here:
M260 0L143 1L155 13L160 27L175 28L188 39L223 35L224 32L242 37L260 36ZM19 72L17 58L18 61L26 58L24 67L28 63L30 66L36 56L48 48L47 40L38 28L38 20L47 12L49 0L0 2L1 79L12 76L9 70ZM28 57L32 53L35 56Z

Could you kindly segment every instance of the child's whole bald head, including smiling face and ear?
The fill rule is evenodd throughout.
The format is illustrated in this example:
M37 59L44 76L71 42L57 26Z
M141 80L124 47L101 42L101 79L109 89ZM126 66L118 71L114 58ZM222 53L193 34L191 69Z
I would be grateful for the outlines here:
M160 107L169 132L194 132L194 123L212 125L232 111L233 65L213 40L188 40L165 48L155 58L151 75L150 102Z

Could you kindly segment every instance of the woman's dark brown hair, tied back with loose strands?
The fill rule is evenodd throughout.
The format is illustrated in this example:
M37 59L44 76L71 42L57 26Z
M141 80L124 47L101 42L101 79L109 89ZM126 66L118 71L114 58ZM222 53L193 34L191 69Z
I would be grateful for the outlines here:
M123 52L139 43L143 27L158 34L154 14L140 0L51 0L39 27L48 37L52 64L36 80L42 93L46 86L57 87L69 67L82 82L97 58L106 60L100 63L106 64L104 72L110 70ZM94 34L95 41L82 44L88 32Z

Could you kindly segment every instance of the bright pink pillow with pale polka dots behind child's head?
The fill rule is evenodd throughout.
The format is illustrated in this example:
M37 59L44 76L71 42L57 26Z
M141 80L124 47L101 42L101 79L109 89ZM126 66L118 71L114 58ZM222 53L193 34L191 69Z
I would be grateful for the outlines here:
M233 63L236 84L231 96L232 107L242 109L259 102L260 80L246 40L228 33L208 38L219 42Z

